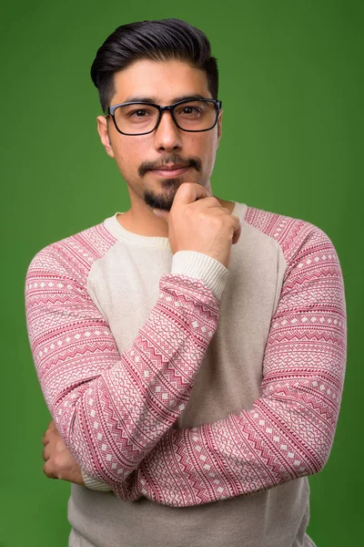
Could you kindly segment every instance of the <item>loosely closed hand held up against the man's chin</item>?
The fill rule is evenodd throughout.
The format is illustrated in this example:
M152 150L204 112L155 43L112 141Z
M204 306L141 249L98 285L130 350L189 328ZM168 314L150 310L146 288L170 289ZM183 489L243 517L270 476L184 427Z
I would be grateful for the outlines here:
M154 210L168 224L172 253L197 251L215 258L227 268L231 245L238 243L241 227L237 216L195 182L178 188L170 212Z

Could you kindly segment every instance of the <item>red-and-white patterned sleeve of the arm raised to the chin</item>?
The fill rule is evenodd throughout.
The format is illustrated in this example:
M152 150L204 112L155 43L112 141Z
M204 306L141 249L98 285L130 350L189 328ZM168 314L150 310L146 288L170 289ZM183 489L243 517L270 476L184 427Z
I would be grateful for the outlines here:
M122 356L87 293L96 260L116 243L104 224L35 255L25 281L30 346L46 404L83 470L125 481L177 420L217 328L215 295L166 274L157 304Z

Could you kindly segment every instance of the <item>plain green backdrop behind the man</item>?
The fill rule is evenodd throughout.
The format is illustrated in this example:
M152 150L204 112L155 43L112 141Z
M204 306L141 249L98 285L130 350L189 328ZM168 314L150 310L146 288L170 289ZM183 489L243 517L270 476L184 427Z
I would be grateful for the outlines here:
M0 546L67 544L69 484L42 471L50 417L25 329L25 272L48 243L128 208L126 183L96 133L89 68L116 26L170 16L201 28L218 59L225 114L214 193L313 222L339 253L347 377L329 462L309 479L308 533L318 547L362 545L363 3L173 5L13 0L0 7Z

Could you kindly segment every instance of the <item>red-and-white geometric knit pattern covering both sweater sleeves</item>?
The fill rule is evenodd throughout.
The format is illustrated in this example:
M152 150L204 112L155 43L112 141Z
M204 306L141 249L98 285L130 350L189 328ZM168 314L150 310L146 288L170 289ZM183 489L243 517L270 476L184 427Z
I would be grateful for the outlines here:
M28 268L26 321L46 404L80 467L123 500L200 505L312 475L329 458L347 343L337 253L308 222L252 207L245 222L287 263L261 396L198 428L172 426L217 328L218 300L202 280L163 275L120 356L87 293L92 264L116 243L104 224L45 247Z

